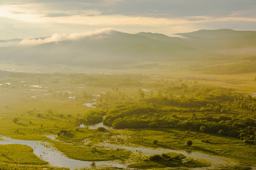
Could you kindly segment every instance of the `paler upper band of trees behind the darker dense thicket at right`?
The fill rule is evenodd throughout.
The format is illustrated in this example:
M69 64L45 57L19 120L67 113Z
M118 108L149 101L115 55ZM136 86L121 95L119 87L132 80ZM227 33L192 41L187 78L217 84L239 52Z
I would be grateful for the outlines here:
M144 101L180 107L201 107L201 111L213 110L212 105L219 106L215 110L221 112L228 111L229 107L256 111L256 97L252 97L248 93L238 93L231 88L219 86L188 87L182 84L181 86L171 85L163 87L159 92L158 97L144 99ZM180 97L175 98L175 95ZM159 96L165 97L161 98Z

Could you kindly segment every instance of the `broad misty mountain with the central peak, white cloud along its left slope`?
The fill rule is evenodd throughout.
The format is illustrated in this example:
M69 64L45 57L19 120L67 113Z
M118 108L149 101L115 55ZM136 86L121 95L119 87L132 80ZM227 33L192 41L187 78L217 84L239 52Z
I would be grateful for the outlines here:
M177 38L176 38L177 39ZM179 38L178 38L179 39ZM112 31L94 34L78 40L49 42L10 52L15 61L29 60L107 60L156 59L189 51L183 46L171 46L139 34ZM9 59L11 59L9 58Z

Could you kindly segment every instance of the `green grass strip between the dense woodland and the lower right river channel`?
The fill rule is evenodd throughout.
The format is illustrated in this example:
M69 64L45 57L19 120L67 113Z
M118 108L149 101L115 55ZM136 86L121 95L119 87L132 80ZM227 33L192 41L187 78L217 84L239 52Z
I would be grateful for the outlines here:
M131 138L124 142L126 144L189 150L238 159L244 165L256 165L256 160L254 159L256 147L244 144L241 140L233 137L167 128L121 130L119 133L131 136ZM158 140L156 145L153 144L155 139ZM210 144L202 142L202 139L209 140ZM193 144L191 147L185 145L186 140L192 140ZM243 152L238 152L239 150Z

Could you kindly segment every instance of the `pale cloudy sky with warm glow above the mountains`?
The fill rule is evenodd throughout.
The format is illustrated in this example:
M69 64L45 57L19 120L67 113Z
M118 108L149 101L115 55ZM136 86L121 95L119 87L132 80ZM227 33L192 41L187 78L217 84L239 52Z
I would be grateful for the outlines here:
M221 28L256 31L256 0L0 0L0 40Z

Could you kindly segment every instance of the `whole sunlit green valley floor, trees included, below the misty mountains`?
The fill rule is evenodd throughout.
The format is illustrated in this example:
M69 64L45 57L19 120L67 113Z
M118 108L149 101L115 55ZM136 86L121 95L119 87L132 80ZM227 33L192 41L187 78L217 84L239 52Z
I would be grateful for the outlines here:
M0 65L0 169L255 169L256 75L229 64Z

